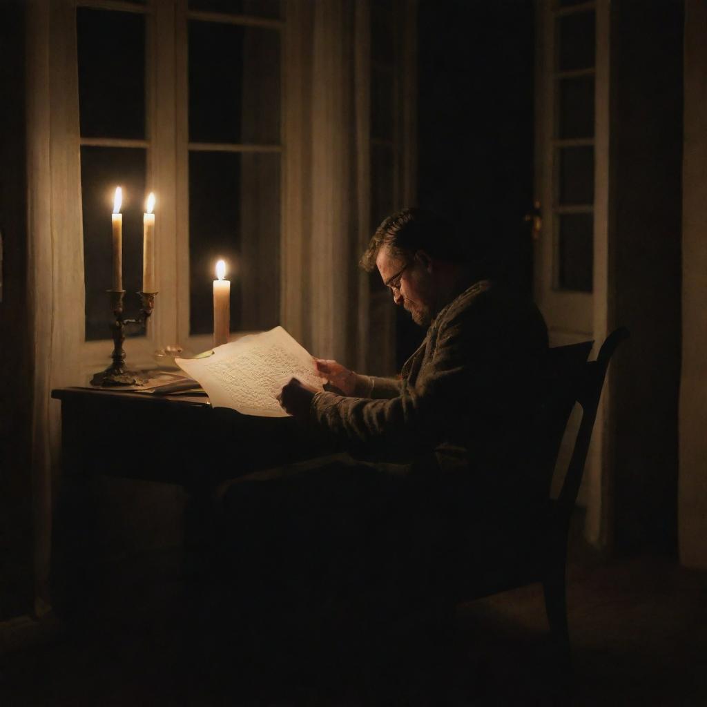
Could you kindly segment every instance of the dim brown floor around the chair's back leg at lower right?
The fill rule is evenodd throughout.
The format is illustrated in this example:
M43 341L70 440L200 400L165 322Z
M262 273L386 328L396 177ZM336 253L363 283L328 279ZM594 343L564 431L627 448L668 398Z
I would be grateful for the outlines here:
M480 705L561 703L540 607L537 587L462 607L468 643L484 661ZM573 563L568 613L572 705L707 705L707 573L650 556Z

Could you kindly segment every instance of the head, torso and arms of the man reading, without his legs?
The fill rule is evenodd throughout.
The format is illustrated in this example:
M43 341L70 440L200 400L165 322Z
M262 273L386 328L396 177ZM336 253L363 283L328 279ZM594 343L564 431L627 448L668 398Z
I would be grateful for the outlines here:
M423 344L399 379L317 360L320 375L339 394L291 380L281 392L282 406L368 459L423 465L428 475L452 474L472 485L506 486L522 462L513 455L526 422L524 405L532 403L534 371L547 350L542 315L530 301L484 279L450 226L419 209L386 218L361 263L377 267L395 304L426 327ZM479 489L475 500L488 506L493 498L487 493L491 489Z

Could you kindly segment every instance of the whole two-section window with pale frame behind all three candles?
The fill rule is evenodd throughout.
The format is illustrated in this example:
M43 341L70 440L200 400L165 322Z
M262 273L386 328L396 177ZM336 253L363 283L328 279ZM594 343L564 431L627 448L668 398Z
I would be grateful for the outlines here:
M279 323L279 0L79 0L76 8L86 342L110 339L110 213L123 189L127 317L142 289L142 214L155 192L150 323L128 327L129 359L211 344L212 286L228 264L233 332ZM101 341L100 347L98 342ZM92 343L93 342L93 343ZM95 345L93 345L95 344Z

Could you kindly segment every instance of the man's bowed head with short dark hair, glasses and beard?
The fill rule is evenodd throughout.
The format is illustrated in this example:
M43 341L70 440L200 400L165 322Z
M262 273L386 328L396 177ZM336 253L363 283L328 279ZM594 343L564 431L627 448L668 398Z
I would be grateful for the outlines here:
M378 268L395 303L428 326L457 294L467 258L450 223L429 211L404 209L378 226L361 267Z

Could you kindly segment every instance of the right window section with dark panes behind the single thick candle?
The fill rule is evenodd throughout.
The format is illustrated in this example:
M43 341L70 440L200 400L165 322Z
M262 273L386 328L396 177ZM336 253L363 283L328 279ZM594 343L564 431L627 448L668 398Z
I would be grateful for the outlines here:
M268 16L275 5L245 3ZM279 324L280 33L271 23L241 22L187 13L191 335L212 331L211 280L221 258L231 273L231 330Z

